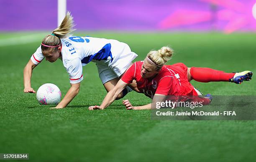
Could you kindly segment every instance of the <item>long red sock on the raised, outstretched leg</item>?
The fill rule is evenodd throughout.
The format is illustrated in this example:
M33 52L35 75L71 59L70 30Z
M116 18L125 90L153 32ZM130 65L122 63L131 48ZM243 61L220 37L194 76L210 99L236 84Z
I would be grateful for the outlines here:
M235 75L235 73L225 73L207 67L191 67L190 74L197 82L228 82Z

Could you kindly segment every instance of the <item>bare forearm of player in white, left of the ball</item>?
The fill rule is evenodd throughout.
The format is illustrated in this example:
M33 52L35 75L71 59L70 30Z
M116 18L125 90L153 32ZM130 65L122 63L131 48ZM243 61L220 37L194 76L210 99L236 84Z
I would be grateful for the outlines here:
M35 90L31 87L31 75L33 69L36 67L36 65L29 60L27 65L24 67L23 70L23 81L24 81L24 93L36 93Z

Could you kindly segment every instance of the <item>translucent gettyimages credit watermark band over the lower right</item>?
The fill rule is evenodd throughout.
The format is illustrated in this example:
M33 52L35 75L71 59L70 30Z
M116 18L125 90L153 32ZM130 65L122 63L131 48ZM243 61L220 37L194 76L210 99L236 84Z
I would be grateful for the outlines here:
M161 97L161 96L160 96ZM162 100L159 97L159 100ZM153 120L256 120L256 96L168 96L151 104Z

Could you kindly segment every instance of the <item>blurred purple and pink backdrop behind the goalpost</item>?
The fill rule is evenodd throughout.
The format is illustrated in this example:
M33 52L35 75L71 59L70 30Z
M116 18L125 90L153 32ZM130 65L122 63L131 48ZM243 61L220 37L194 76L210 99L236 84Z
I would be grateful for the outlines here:
M256 0L67 0L78 30L256 31ZM57 0L0 0L0 31L54 30Z

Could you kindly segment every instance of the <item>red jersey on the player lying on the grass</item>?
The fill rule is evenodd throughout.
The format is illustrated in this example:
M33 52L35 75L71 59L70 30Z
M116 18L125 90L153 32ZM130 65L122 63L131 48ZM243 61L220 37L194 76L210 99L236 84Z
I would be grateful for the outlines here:
M153 98L155 94L161 95L196 95L194 87L187 80L187 66L183 63L164 65L154 78L141 77L143 61L134 64L121 78L123 82L130 84L136 80L137 88L146 96Z

